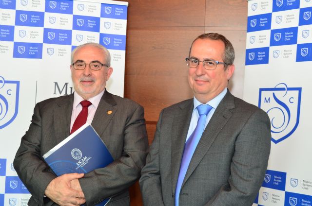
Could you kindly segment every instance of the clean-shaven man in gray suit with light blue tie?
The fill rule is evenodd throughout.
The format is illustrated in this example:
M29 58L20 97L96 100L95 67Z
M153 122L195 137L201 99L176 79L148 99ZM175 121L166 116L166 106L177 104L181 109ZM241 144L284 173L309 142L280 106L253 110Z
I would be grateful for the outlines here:
M144 205L251 206L267 169L269 117L228 91L234 49L223 35L198 36L186 62L194 99L160 113L139 180ZM211 110L190 154L188 140L195 139L201 104Z

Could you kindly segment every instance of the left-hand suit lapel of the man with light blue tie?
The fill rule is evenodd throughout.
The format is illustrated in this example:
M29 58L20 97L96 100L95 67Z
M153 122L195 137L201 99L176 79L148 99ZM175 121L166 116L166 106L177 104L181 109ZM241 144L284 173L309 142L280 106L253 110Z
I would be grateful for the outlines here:
M176 191L177 178L180 171L180 164L186 136L193 112L193 99L183 102L179 105L173 121L172 142L171 142L171 171L173 192Z

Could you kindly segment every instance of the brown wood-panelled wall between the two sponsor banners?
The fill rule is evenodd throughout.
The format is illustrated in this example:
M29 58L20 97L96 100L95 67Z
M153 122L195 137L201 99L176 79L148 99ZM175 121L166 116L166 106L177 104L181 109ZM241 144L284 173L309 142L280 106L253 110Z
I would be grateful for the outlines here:
M246 0L127 0L128 25L124 96L145 108L151 143L161 109L192 98L187 81L190 45L203 33L225 35L235 49L230 90L242 98ZM117 68L115 68L117 69ZM141 206L138 184L130 189L131 205Z

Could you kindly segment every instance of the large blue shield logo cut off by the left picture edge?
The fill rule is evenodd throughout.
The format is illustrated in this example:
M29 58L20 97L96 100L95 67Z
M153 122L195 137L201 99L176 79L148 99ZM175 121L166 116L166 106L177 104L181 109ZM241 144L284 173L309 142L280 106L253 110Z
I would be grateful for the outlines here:
M0 76L0 129L9 125L19 109L19 81L7 81Z

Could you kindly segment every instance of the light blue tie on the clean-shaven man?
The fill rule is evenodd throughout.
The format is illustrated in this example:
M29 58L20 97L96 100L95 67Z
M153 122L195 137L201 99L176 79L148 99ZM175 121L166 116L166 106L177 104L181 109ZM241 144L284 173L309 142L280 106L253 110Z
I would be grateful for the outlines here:
M177 183L176 183L176 195L175 195L176 206L179 205L179 194L180 194L180 190L182 187L182 183L183 183L187 168L189 167L189 164L191 162L191 159L195 152L197 144L200 140L200 137L204 132L206 117L207 117L207 114L212 109L212 106L208 104L200 104L196 107L196 109L198 111L199 118L198 118L197 125L196 125L194 132L192 133L192 135L188 138L188 140L185 143L180 172L179 172L179 176L177 178Z

